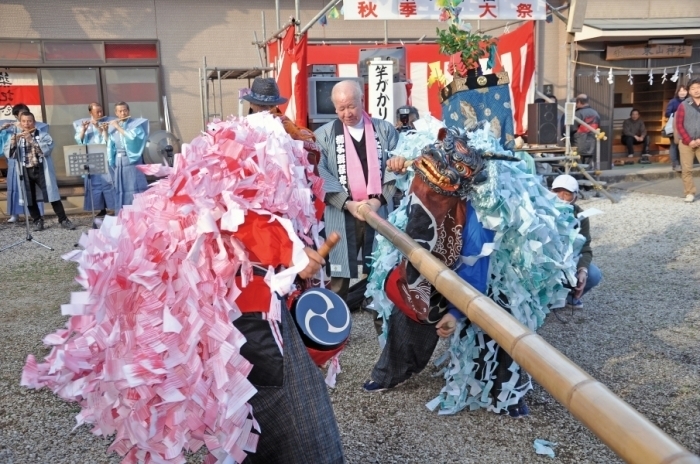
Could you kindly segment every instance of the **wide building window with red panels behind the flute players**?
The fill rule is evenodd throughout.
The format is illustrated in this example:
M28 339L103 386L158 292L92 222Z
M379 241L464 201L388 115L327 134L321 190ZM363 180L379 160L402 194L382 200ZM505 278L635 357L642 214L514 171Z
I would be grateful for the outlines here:
M13 119L24 103L37 121L49 124L56 176L67 177L63 147L74 145L73 121L88 117L88 104L102 103L106 115L126 101L134 117L162 127L159 50L156 40L0 39L0 120ZM7 67L4 67L7 66Z

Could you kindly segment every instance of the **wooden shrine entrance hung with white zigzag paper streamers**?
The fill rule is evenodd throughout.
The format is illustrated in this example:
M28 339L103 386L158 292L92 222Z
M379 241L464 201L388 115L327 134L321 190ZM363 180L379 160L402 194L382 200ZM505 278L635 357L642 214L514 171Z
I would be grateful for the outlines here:
M687 18L686 18L687 19ZM666 161L670 140L662 135L666 105L695 72L700 77L700 30L685 19L591 20L577 34L576 93L585 93L601 117L604 169L626 158L622 123L640 112L654 159ZM595 27L593 27L595 26ZM693 70L695 66L695 70ZM641 147L636 148L639 158Z

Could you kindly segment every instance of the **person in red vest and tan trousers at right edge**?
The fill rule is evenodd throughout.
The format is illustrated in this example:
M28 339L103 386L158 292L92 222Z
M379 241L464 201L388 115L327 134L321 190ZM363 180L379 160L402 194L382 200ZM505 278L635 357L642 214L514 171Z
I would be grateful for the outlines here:
M674 119L679 139L683 194L685 202L692 203L696 193L692 172L693 158L700 161L700 78L688 82L688 95L690 98L678 105Z

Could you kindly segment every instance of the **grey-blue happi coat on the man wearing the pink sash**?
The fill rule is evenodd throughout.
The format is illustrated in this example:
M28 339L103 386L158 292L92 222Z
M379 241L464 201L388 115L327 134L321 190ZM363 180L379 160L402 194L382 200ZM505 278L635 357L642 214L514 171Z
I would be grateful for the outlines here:
M347 224L345 221L345 212L341 209L347 193L338 180L338 162L337 153L335 152L335 121L329 122L318 128L315 132L316 141L321 147L322 155L321 162L318 165L318 171L323 179L323 188L326 191L326 210L324 213L325 230L327 233L336 231L340 234L340 243L331 250L328 261L330 262L331 277L357 277L357 266L352 266L353 259L348 255L348 233L349 227L354 228L354 223ZM372 118L372 125L375 133L379 136L382 143L382 163L381 170L384 173L382 183L384 185L383 194L387 200L387 205L379 209L379 215L386 218L388 209L392 206L393 192L395 191L394 182L396 177L393 173L385 172L386 160L389 158L389 151L396 148L399 140L398 133L391 123L382 119ZM341 194L341 195L333 195ZM343 194L345 196L343 196ZM351 234L354 235L354 234ZM354 249L354 247L353 247ZM372 250L363 250L365 259L369 258ZM364 261L364 260L363 260Z

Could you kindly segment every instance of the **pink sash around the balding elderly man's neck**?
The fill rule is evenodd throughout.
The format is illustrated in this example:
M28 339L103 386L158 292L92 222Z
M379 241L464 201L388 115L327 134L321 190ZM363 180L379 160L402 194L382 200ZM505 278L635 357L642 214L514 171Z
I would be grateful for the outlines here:
M343 124L345 134L345 156L348 171L348 184L350 193L354 201L367 200L370 195L382 193L382 179L379 169L379 154L372 127L372 119L367 113L363 113L365 123L365 146L367 147L367 174L369 182L365 183L365 174L362 172L362 163L355 150L355 144L348 132L348 128Z

